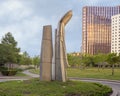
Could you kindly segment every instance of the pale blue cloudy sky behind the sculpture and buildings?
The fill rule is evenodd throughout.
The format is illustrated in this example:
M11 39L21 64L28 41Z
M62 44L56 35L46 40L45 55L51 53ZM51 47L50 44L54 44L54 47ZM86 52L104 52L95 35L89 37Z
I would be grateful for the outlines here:
M120 0L0 0L0 39L11 32L21 51L39 55L42 29L52 25L53 36L60 18L69 10L66 26L67 52L79 52L82 42L82 7L117 6Z

